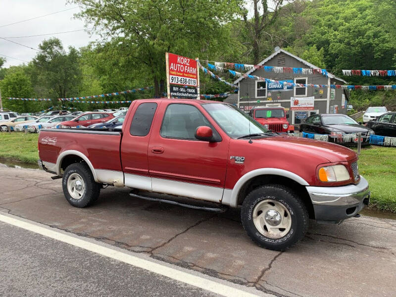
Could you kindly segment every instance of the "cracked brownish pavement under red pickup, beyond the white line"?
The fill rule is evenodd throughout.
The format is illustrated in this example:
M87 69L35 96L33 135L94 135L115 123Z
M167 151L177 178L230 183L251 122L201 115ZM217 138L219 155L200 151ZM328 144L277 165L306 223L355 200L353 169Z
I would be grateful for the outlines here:
M49 176L0 168L0 211L274 296L395 296L394 220L311 222L302 242L277 252L249 240L238 211L213 215L133 199L128 189L113 187L80 209L67 203L60 180Z

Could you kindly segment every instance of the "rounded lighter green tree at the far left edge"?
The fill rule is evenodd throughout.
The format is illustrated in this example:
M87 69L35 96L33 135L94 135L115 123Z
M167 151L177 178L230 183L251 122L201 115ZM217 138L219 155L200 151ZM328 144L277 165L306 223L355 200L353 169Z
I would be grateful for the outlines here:
M17 112L32 112L40 110L37 102L25 100L9 100L11 98L32 98L34 91L29 77L23 71L7 74L0 81L3 107Z

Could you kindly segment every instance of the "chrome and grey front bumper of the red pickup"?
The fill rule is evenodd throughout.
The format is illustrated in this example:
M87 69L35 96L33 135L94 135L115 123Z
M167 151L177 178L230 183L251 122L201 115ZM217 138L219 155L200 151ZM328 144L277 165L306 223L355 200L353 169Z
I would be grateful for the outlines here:
M341 221L355 216L370 200L368 182L360 177L356 185L341 187L306 187L311 198L315 219Z

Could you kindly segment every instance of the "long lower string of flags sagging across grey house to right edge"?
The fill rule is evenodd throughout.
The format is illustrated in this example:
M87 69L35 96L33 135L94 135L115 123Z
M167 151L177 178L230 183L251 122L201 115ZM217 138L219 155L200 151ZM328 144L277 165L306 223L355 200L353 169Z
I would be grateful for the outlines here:
M212 66L215 66L215 65L212 65ZM219 67L217 67L217 66L215 66L215 68L213 68L212 66L211 66L211 69L213 69L213 70L215 70L215 68L217 70L219 69ZM199 67L205 73L209 73L213 78L218 79L217 75L213 74L210 70L206 69L201 64L199 64ZM243 76L246 79L261 80L261 81L265 81L266 83L275 83L275 84L283 85L285 87L286 86L303 87L303 88L307 88L307 87L311 87L311 88L327 88L327 87L329 87L329 85L297 84L297 83L290 83L290 82L287 82L287 81L277 81L277 80L274 80L274 79L269 79L269 78L264 78L264 77L260 77L260 76L257 76L257 75L241 73L241 72L230 70L230 69L226 69L226 68L223 68L223 70L227 70L232 76L235 76L235 77ZM222 81L224 81L224 80L222 80ZM229 84L228 82L226 82L226 83ZM396 85L383 85L383 86L330 85L330 88L331 89L342 89L342 90L379 91L379 90L396 90Z

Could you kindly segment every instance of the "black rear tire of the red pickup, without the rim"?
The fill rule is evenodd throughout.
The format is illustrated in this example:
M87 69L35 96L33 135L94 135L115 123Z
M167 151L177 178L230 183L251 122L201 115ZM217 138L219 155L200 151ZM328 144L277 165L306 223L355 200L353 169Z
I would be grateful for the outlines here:
M68 179L74 173L77 173L79 176L81 176L85 183L84 194L79 199L73 198L67 188ZM62 177L62 189L66 200L71 205L75 207L86 207L91 205L99 198L100 188L101 185L95 182L91 169L86 163L73 163L66 167Z

